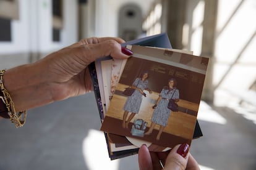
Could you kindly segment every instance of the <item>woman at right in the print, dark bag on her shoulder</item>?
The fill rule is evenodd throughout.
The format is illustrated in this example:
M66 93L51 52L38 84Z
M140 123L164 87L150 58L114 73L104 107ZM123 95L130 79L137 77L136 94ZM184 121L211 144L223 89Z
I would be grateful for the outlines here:
M174 102L179 102L179 89L177 89L177 81L174 78L169 79L169 86L163 87L156 100L155 105L153 105L153 115L151 118L150 129L145 133L145 135L150 135L156 124L160 125L159 132L156 136L156 140L160 139L164 127L166 127L169 116L171 115L171 110L168 108L168 103L170 99L174 99Z

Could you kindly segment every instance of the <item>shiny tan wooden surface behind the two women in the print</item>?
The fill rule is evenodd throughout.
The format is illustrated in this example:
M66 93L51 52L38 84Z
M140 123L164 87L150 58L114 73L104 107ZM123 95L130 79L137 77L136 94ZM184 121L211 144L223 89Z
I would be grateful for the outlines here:
M150 97L152 97L152 95L150 95ZM150 127L151 116L153 114L152 106L154 104L144 101L144 100L152 100L150 97L148 97L148 99L145 98L142 100L142 105L140 107L139 113L134 116L134 118L130 121L130 123L133 123L134 119L141 118L144 121L147 121L148 123L147 126ZM123 107L126 100L127 100L126 96L115 94L113 96L113 99L111 100L106 116L122 120L122 116L124 115ZM195 103L190 103L190 102L186 102L185 100L181 100L181 102L179 102L179 105L181 105L182 108L183 106L186 106L187 110L192 110L192 111L195 111L195 113L197 113L198 105ZM183 111L178 111L178 112L172 111L171 115L169 116L167 126L164 128L164 132L173 134L175 136L181 136L186 139L192 139L196 121L197 121L196 115L184 113ZM116 126L114 125L114 127ZM159 127L160 126L156 124L155 129L158 129Z

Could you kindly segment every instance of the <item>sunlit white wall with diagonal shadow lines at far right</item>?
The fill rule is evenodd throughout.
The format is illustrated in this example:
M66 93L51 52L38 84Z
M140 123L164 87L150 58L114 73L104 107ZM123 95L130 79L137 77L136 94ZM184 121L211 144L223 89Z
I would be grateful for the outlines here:
M218 1L213 84L215 103L226 105L237 92L248 91L256 79L256 2ZM226 89L229 94L223 99Z

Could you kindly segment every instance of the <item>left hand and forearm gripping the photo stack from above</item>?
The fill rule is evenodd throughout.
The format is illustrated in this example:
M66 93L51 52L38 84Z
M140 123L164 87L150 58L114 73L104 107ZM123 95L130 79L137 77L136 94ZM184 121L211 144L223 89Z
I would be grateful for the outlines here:
M132 52L121 47L122 42L120 38L82 39L35 63L7 70L5 86L16 110L27 110L91 91L88 65L108 55L127 59Z

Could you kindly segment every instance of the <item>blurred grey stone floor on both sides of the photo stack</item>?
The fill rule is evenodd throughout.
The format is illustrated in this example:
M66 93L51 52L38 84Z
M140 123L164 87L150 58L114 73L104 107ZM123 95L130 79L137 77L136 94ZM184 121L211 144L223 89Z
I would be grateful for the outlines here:
M255 116L255 110L202 101L198 122L203 137L191 147L201 169L255 169ZM93 93L29 110L19 129L0 119L0 170L139 169L137 155L110 161L98 129Z

